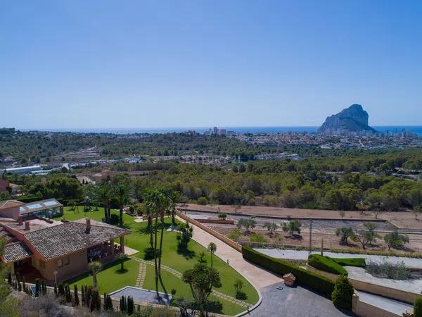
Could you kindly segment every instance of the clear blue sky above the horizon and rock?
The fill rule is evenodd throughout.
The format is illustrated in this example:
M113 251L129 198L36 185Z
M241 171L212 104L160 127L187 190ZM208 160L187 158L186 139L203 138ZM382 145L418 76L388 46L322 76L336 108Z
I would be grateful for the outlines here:
M422 125L422 1L2 1L0 126Z

